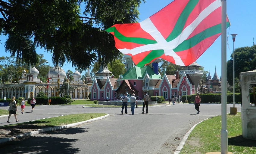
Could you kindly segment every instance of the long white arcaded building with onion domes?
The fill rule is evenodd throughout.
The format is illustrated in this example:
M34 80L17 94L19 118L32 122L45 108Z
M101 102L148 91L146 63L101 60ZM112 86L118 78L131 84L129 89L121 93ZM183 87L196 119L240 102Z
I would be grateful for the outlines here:
M42 82L38 75L39 71L35 67L32 68L30 66L28 73L23 70L19 81L10 83L2 78L2 82L0 84L1 98L11 98L12 96L15 96L16 98L23 97L27 100L31 96L36 97L40 91L43 91L47 96L49 93L49 97L62 96L59 94L58 89L64 83L64 78L67 77L66 82L69 81L69 78L61 67L52 67L47 73L48 78L51 78L49 79L49 88L46 88L48 83ZM74 79L73 81L69 81L69 84L71 87L76 88L72 93L70 93L71 99L87 99L92 85L91 77L87 76L81 80L81 73L77 70L72 74L72 76Z

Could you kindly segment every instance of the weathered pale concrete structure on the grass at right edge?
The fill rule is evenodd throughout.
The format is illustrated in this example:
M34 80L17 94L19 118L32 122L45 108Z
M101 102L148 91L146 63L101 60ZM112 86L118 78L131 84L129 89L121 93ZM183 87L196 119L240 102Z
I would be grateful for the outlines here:
M256 84L256 70L241 72L241 121L242 136L246 139L256 140L256 105L250 103L249 87ZM255 91L254 91L255 94Z

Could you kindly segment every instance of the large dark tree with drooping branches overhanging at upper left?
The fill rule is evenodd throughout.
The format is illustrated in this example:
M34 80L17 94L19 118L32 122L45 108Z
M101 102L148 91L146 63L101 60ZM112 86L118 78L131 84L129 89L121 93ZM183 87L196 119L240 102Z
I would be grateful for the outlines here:
M0 34L8 35L5 49L21 63L37 64L40 47L52 54L55 66L71 62L86 69L95 60L107 64L118 57L113 36L105 29L136 22L141 2L145 1L1 0Z

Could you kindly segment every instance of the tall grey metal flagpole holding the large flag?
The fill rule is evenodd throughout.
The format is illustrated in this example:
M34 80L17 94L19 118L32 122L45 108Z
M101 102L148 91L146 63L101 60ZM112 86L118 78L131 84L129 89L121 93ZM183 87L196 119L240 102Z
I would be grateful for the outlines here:
M220 153L228 153L228 131L227 131L227 60L226 60L226 0L221 0L221 131L220 131Z

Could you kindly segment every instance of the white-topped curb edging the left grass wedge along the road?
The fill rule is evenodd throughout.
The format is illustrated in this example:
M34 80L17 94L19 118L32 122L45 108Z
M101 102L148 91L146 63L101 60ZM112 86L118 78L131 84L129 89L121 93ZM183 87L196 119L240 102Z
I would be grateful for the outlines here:
M83 123L88 123L88 122L100 120L100 119L106 118L108 116L109 116L109 114L107 114L105 116L93 118L93 119L90 119L90 120L81 121L81 122L78 122L78 123L71 123L71 124L67 124L67 125L64 125L64 126L48 127L48 128L44 128L44 129L38 129L38 130L31 131L31 132L22 133L22 134L19 134L19 135L14 135L14 136L8 137L8 138L1 138L0 139L0 145L4 144L6 142L9 142L9 141L14 141L14 140L17 140L17 139L20 139L20 138L24 138L24 137L27 137L27 136L34 136L34 135L40 134L42 132L53 131L53 130L58 130L58 129L64 129L64 128L68 128L68 127L73 127L73 126L81 125Z

